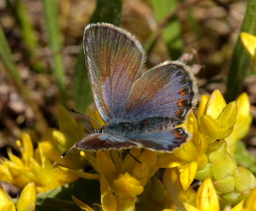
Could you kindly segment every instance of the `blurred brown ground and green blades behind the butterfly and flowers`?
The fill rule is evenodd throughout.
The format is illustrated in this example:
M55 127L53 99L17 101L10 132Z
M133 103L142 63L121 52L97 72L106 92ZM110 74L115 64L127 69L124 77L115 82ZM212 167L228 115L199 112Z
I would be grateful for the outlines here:
M247 3L1 0L0 153L6 155L7 146L17 149L15 141L24 131L37 140L57 128L59 105L86 113L92 98L83 30L97 22L135 34L148 55L145 70L179 58L192 67L200 94L219 89L232 101L246 91L253 115L246 145L255 150L256 77L239 37L241 27L246 29L243 21L248 22Z

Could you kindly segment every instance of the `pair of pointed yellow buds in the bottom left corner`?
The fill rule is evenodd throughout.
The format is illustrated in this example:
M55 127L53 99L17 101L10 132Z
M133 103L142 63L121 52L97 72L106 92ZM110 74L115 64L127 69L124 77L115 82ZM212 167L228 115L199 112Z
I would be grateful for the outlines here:
M20 193L20 198L16 204L18 211L34 211L37 202L37 191L34 183L29 183ZM6 193L0 188L0 210L15 211L15 204Z

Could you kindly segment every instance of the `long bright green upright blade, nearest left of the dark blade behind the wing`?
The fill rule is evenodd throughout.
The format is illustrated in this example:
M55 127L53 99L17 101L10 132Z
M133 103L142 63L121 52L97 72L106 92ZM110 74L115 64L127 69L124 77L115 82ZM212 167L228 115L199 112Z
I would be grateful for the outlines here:
M64 69L64 59L61 55L62 43L59 27L59 11L57 0L43 0L45 22L48 31L50 49L53 53L53 74L59 87L62 104L66 104L67 88Z

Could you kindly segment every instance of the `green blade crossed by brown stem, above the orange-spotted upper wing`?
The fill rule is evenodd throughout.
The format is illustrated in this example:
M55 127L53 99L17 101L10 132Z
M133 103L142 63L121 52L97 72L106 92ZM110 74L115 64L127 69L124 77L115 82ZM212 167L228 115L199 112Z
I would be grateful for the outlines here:
M161 23L166 16L178 6L178 1L173 0L151 0L158 23ZM172 59L177 59L182 53L183 42L181 39L181 24L174 16L162 31L164 39Z

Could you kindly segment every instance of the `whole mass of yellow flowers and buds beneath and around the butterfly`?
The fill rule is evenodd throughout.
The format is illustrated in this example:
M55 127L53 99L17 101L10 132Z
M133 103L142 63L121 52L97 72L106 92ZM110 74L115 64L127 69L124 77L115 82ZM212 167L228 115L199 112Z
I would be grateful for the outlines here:
M102 123L99 114L93 114ZM256 180L248 169L237 166L233 156L238 140L246 135L251 122L246 93L226 104L222 94L214 91L211 96L202 96L197 118L191 112L181 125L191 138L173 153L138 148L129 153L72 150L61 158L84 136L83 126L61 107L60 130L49 131L36 150L29 135L24 134L22 143L18 141L22 158L8 150L10 160L2 158L0 179L18 188L34 182L37 192L52 190L78 177L99 180L100 206L105 211L132 211L135 203L139 210L165 211L220 210L227 204L239 203L232 211L245 211L255 206ZM95 173L83 171L86 161ZM162 171L158 177L154 176L159 169ZM204 180L197 192L191 185L195 179ZM94 210L75 196L72 198L81 209ZM7 202L2 206L12 206ZM225 208L228 209L231 208Z

